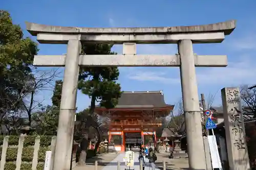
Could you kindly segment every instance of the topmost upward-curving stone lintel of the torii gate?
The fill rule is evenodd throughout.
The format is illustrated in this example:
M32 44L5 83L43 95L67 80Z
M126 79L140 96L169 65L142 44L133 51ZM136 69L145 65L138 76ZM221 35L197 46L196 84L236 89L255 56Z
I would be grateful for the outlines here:
M229 35L236 28L236 20L212 23L199 26L178 26L178 27L141 27L141 28L86 28L86 27L60 27L47 26L38 23L26 22L28 32L36 36L38 33L52 34L185 34L185 33L210 33L223 32Z

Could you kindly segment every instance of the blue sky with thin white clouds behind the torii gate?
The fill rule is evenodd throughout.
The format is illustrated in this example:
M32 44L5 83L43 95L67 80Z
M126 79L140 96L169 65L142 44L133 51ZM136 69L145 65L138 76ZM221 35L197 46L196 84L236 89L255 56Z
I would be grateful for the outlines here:
M221 104L223 87L256 83L256 1L14 1L2 0L0 9L11 13L14 23L25 29L25 21L45 25L74 27L162 27L189 26L237 19L237 28L222 43L194 44L199 55L227 55L227 67L197 68L198 92L216 94L214 104ZM31 37L36 39L36 37ZM61 55L66 45L39 44L40 55ZM113 51L122 52L116 45ZM176 44L138 45L138 54L175 54ZM51 68L44 68L51 69ZM61 68L63 69L63 68ZM181 99L178 67L122 67L119 82L125 91L163 90L165 102L176 104ZM51 93L38 98L51 103ZM78 91L78 110L90 104L88 96Z

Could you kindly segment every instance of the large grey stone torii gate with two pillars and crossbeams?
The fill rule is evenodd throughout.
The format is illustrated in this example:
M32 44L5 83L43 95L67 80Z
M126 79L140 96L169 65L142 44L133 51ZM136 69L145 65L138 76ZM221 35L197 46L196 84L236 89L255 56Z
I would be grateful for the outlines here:
M79 67L164 66L180 67L189 167L206 169L195 66L225 67L226 56L200 56L193 43L220 43L236 27L236 21L202 26L148 28L56 27L26 22L39 43L68 44L67 55L35 56L35 66L65 66L54 170L70 168ZM81 43L123 44L122 55L80 55ZM176 55L136 55L137 44L176 43Z

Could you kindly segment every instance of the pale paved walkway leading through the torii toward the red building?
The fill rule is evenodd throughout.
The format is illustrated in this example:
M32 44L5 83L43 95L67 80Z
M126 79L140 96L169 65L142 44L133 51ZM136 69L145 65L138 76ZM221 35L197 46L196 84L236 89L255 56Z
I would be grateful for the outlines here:
M106 166L104 166L102 170L117 170L117 162L118 161L120 162L120 170L124 170L125 168L129 169L129 167L125 166L125 163L123 161L124 157L125 157L125 153L119 154L110 163L106 164ZM140 169L138 157L139 157L139 154L135 152L135 154L134 154L134 158L135 158L134 167L131 168L131 169L134 169L134 170L139 170ZM152 168L150 167L150 163L148 162L148 159L146 158L145 170L150 170L150 169L152 169ZM159 168L156 167L156 170L159 170Z

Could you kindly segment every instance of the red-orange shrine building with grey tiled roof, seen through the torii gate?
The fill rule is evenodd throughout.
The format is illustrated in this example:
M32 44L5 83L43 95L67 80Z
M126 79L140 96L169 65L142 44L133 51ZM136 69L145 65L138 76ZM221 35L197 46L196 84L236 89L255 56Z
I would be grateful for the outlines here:
M165 104L162 91L124 91L115 108L98 106L95 113L110 118L109 142L116 151L127 151L155 142L156 128L173 108Z

